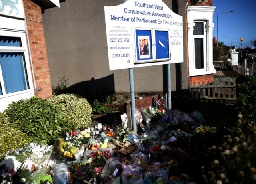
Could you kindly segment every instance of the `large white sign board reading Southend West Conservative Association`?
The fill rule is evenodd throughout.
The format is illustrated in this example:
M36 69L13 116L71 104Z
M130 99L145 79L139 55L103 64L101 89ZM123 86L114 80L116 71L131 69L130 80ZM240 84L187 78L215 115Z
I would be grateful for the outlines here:
M105 6L109 69L183 62L182 16L161 0Z

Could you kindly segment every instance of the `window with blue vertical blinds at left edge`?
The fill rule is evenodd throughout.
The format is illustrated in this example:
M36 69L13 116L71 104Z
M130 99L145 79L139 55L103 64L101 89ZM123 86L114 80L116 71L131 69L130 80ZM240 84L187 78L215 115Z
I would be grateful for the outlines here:
M0 98L29 89L25 55L25 33L0 30Z

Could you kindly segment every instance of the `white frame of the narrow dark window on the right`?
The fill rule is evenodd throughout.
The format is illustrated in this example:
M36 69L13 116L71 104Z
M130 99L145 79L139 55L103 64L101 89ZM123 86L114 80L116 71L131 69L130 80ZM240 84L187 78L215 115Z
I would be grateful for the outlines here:
M204 72L206 70L206 29L205 29L205 25L206 25L206 21L194 21L194 23L196 22L203 22L203 33L204 34L201 34L201 35L194 35L193 34L193 39L194 39L194 43L195 43L195 38L203 38L203 45L204 45L204 48L203 48L203 52L204 52L204 67L201 68L201 69L196 69L196 71L198 72ZM194 61L195 61L195 67L196 67L196 52L195 52L195 46L193 48L193 53L194 53Z

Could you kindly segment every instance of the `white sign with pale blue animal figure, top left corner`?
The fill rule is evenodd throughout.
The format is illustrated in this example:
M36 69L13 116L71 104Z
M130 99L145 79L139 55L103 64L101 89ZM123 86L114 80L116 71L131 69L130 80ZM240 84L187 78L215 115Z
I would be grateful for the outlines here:
M0 14L25 18L22 0L0 0Z

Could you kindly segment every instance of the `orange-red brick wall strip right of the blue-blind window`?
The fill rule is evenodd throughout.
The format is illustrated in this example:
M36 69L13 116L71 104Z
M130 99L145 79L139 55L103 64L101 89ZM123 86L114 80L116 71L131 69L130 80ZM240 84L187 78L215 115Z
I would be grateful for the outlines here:
M23 0L23 4L28 27L36 88L42 88L41 91L35 91L35 95L40 98L49 98L52 97L52 87L41 8L31 0Z

